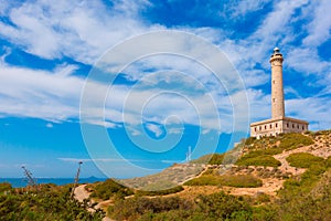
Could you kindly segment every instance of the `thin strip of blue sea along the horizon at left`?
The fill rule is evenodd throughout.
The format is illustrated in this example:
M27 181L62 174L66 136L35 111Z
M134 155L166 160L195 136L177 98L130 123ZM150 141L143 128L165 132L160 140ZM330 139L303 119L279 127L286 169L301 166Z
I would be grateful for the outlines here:
M57 186L74 183L74 178L36 178L36 183L54 183ZM93 183L97 181L105 181L106 178L88 177L79 178L79 183ZM13 188L26 187L28 181L25 178L0 178L0 183L9 182Z

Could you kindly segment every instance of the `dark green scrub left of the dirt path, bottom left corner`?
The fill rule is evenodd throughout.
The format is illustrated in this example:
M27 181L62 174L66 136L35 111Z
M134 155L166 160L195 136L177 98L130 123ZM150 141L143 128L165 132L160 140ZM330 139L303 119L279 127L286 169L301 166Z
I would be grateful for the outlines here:
M4 190L6 189L6 190ZM0 220L102 220L102 210L87 211L86 200L71 199L68 186L42 185L40 189L13 189L0 185ZM3 191L4 190L4 191Z

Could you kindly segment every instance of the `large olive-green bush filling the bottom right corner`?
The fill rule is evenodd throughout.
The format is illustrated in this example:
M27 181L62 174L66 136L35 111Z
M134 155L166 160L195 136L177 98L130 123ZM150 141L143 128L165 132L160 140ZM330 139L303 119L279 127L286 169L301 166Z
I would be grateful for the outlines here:
M329 176L319 179L321 176L311 169L301 176L296 186L288 183L280 191L279 202L275 207L276 220L331 220L331 170L327 171ZM316 168L313 170L321 172Z

